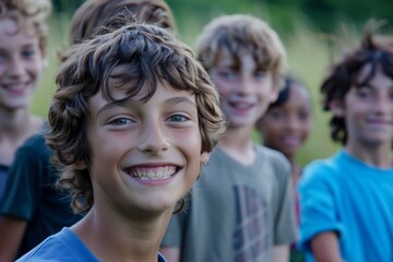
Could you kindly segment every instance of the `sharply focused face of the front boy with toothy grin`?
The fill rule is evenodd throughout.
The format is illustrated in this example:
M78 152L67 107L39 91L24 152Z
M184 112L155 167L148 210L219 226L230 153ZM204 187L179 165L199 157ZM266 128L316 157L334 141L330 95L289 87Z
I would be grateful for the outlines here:
M110 84L115 85L115 84ZM194 183L202 162L194 95L158 83L146 103L138 94L112 103L102 94L88 100L87 141L95 206L121 212L165 211ZM114 97L124 97L114 91Z

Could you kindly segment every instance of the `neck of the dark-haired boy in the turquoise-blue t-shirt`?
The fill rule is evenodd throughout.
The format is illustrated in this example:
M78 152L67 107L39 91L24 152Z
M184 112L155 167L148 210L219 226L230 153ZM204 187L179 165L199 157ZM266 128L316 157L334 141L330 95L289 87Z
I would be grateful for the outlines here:
M393 159L391 154L391 145L381 146L362 146L360 144L347 144L345 150L352 156L359 160L379 168L390 168L393 166Z

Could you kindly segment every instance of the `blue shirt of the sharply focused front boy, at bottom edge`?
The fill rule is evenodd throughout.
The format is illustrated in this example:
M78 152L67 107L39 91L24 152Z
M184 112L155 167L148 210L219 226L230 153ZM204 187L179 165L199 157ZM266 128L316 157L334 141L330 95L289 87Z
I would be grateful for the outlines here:
M157 258L158 262L167 262L160 253ZM24 261L98 262L98 259L70 228L64 227L16 260L16 262Z

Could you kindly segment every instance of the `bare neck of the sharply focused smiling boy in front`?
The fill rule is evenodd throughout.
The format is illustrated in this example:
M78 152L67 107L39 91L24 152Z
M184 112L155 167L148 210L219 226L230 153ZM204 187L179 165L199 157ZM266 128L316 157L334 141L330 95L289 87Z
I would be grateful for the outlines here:
M86 216L72 230L99 261L157 261L157 252L169 223L171 211L148 222L117 221L116 215ZM109 217L109 219L107 219Z

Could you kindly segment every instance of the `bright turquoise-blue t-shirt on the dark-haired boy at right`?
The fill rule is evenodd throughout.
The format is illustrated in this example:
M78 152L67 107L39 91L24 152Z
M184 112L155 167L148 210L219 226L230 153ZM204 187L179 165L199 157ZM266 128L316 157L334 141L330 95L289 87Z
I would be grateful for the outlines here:
M393 168L377 168L344 150L305 168L299 183L300 246L323 231L338 234L348 262L393 261Z

